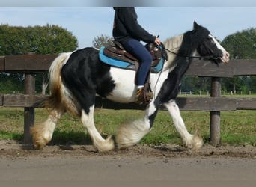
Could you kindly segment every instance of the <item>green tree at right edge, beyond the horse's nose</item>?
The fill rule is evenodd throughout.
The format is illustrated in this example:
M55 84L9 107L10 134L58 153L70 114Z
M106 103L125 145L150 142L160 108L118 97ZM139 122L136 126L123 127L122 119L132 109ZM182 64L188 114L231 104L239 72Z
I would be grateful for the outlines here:
M256 28L249 28L243 31L238 31L234 34L228 35L222 41L222 46L234 59L250 59L256 58ZM227 91L237 91L242 93L249 93L254 90L252 80L254 76L234 77L222 79L224 88Z

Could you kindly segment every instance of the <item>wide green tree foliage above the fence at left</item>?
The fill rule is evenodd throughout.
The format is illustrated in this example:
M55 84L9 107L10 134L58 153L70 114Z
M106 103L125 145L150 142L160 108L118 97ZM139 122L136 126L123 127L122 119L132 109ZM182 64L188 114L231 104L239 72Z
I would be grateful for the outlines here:
M22 55L27 52L55 54L73 51L77 46L76 37L58 25L0 25L0 55Z

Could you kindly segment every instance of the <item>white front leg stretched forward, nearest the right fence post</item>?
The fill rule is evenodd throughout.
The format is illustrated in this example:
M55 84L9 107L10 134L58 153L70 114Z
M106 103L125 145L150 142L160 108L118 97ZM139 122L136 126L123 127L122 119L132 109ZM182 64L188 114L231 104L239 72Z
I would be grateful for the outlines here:
M180 133L180 136L183 139L184 144L186 144L186 147L192 150L200 149L204 143L202 138L198 136L197 133L195 133L195 135L189 134L180 115L180 108L176 102L171 100L166 102L164 105L167 108L169 114L171 114L171 117L174 121L174 126L177 129L177 132Z

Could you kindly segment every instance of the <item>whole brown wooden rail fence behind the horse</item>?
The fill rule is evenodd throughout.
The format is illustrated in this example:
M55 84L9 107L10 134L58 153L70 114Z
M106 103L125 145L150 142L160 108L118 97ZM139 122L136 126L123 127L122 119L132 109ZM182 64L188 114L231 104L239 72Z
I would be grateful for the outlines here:
M34 108L46 96L34 94L34 73L46 72L57 55L11 55L0 57L0 72L25 73L25 94L0 94L0 106L24 108L24 144L31 144L30 126L34 125ZM221 96L221 77L256 75L256 59L231 60L228 64L212 64L206 61L192 61L186 76L211 77L210 97L178 97L180 110L210 112L210 143L220 141L220 112L255 110L256 98L234 99ZM1 80L0 80L1 81ZM121 104L97 97L96 107L111 109L143 109L139 105Z

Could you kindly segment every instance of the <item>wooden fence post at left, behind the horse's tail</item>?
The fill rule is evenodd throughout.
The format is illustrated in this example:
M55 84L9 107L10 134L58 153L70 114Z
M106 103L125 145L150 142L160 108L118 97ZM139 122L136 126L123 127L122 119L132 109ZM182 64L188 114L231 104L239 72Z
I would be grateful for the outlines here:
M33 53L28 53L33 55ZM34 95L35 93L35 78L31 74L25 74L25 94ZM24 108L24 139L23 144L31 144L32 137L30 134L30 127L34 126L34 108Z

